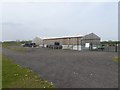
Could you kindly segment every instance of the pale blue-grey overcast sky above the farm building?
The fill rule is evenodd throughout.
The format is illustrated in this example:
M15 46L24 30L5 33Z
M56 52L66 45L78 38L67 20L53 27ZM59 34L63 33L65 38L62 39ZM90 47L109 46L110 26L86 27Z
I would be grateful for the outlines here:
M118 2L115 1L4 0L0 7L2 41L32 40L36 36L86 35L91 32L102 40L118 40Z

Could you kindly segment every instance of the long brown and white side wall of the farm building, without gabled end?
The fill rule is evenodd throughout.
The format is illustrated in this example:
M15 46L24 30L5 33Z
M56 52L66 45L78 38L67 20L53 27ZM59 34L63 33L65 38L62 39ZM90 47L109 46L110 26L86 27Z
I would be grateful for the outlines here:
M43 43L44 46L54 44L54 42L59 42L60 45L63 46L63 49L73 49L73 50L80 50L80 40L81 36L78 37L62 37L62 38L49 38L44 39Z

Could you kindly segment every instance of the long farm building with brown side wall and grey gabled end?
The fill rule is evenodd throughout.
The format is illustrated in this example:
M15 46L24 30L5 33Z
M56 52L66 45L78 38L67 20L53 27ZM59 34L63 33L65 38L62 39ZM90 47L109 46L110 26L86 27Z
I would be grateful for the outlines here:
M54 42L59 42L63 49L82 50L91 49L100 44L100 37L94 33L85 36L61 37L43 39L43 45L53 45Z

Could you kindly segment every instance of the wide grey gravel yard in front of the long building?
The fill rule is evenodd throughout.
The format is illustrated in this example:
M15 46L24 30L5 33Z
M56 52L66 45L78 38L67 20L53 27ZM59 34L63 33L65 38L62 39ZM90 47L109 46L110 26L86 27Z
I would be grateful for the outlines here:
M118 87L118 64L112 60L115 52L27 48L26 52L3 49L3 54L58 88Z

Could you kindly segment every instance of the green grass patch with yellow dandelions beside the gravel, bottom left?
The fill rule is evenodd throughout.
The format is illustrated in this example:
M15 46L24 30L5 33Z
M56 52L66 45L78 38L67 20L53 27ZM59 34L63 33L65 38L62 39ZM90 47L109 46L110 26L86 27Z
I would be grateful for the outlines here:
M36 73L15 64L10 58L2 57L2 87L3 88L55 88L41 79Z

